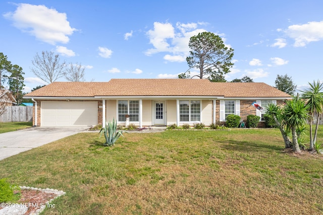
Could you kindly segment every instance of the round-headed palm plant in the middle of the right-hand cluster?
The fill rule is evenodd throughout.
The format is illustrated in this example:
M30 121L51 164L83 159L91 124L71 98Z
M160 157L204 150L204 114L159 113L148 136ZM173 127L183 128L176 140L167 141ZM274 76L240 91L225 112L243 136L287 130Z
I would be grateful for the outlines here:
M297 140L297 128L306 124L308 117L305 102L297 97L287 100L282 110L282 124L292 131L293 151L300 153Z

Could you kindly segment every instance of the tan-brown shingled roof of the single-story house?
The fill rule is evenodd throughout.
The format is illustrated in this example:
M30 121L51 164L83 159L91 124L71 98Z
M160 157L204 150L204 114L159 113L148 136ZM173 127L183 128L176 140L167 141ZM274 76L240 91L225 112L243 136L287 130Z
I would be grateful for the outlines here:
M289 98L265 83L213 83L206 79L112 79L110 82L54 82L25 97L219 96Z

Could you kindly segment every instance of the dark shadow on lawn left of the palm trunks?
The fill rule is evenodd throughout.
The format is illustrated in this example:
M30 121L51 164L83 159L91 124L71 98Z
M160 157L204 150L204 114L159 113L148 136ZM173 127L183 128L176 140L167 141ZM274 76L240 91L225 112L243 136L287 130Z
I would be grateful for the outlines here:
M241 152L263 152L263 151L281 151L283 150L282 147L273 146L273 145L266 145L266 144L259 144L257 142L250 142L250 141L239 141L239 140L226 140L226 141L219 141L223 144L221 148L225 148L227 150L235 150Z

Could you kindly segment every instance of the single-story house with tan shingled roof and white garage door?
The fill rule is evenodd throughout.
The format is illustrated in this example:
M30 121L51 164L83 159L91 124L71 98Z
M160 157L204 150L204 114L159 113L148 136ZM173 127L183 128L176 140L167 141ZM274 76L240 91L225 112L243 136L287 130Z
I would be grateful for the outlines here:
M206 79L112 79L109 82L54 82L24 98L34 101L37 126L89 126L116 119L125 125L177 125L245 121L261 117L251 104L284 104L291 96L264 83L212 83ZM262 123L263 124L263 123ZM260 123L261 125L261 123Z

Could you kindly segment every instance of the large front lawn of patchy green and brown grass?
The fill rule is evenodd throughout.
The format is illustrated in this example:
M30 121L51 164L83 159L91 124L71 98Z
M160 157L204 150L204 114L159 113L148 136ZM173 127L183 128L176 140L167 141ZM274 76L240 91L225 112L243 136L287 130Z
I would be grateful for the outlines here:
M0 161L0 178L67 192L43 214L323 213L323 156L284 152L277 129L124 135L66 137Z

